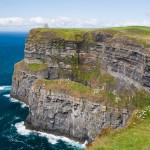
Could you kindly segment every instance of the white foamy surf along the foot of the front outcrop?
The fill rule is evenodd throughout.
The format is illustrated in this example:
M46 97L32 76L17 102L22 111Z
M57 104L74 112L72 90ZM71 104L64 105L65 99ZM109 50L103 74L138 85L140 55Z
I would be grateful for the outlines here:
M28 130L26 129L26 127L24 126L24 122L19 122L19 123L16 123L15 124L15 127L17 129L17 132L21 135L29 135L31 133L35 133L41 137L46 137L48 139L48 142L51 143L51 144L56 144L58 142L58 140L62 140L68 144L71 144L72 146L76 146L76 147L82 147L82 148L85 148L86 147L86 144L87 142L85 141L84 144L80 144L79 142L75 142L67 137L64 137L64 136L55 136L53 134L48 134L48 133L45 133L45 132L40 132L40 131L35 131L35 130Z

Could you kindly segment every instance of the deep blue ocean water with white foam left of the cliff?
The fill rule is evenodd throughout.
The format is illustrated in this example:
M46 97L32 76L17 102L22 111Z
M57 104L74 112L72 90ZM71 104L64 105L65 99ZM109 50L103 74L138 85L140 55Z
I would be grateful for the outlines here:
M25 129L29 108L10 97L14 64L24 57L27 33L0 33L0 150L83 150L77 142Z

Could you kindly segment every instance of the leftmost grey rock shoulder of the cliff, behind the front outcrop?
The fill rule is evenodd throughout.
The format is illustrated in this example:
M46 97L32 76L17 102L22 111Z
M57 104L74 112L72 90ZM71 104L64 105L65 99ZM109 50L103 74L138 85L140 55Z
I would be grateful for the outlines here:
M48 78L47 69L32 71L27 68L27 65L24 60L15 65L11 90L11 97L26 104L28 104L30 89L34 81L38 78Z

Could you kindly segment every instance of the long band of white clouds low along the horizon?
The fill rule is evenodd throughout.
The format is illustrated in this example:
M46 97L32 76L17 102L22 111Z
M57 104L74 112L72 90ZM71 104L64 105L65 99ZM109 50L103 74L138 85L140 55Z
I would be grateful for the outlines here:
M150 26L149 20L143 21L126 21L126 22L103 22L98 19L72 19L69 17L57 17L55 19L34 17L34 18L0 18L0 29L17 29L18 26L24 29L31 29L34 27L43 27L47 23L49 27L60 27L60 28L100 28L100 27L114 27L114 26Z

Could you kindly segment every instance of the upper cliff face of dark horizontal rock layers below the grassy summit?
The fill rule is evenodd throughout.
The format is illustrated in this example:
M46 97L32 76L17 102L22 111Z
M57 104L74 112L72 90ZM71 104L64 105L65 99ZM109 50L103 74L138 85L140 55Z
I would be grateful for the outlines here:
M81 41L64 41L56 39L54 42L47 40L48 35L35 40L37 33L33 31L28 37L25 58L28 61L44 60L49 67L49 79L73 77L72 56L79 57L83 68L95 66L97 62L112 75L128 80L138 88L143 87L149 91L150 87L150 49L142 44L127 39L116 37L111 33L95 32L93 43L88 38L81 37ZM46 38L46 39L44 39ZM63 74L61 71L65 72Z

